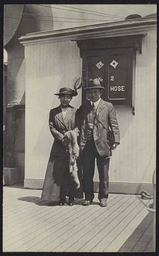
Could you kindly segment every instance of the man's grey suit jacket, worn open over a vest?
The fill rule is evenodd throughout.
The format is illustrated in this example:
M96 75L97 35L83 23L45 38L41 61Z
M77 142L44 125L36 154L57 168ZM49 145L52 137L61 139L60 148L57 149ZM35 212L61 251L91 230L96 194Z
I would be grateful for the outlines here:
M80 131L81 151L83 151L87 141L88 118L91 110L92 110L92 106L90 102L87 102L86 104L81 105L75 121L76 129ZM97 120L95 121L95 125L93 128L94 142L99 155L103 158L107 158L112 155L112 152L109 146L109 141L107 140L107 132L109 130L109 124L108 124L109 118L110 118L110 127L112 132L114 133L115 142L119 143L120 141L118 121L117 121L113 104L101 99L99 101L96 114L98 119L102 122L105 128L102 126L100 122L97 122Z

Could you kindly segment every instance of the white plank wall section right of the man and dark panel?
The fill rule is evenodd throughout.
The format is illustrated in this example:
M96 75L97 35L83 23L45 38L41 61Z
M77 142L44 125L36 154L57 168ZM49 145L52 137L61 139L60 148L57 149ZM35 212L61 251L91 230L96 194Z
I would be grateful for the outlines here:
M137 51L135 116L130 106L115 106L121 135L113 152L110 181L152 183L155 168L156 33L147 32ZM98 180L97 168L95 180Z

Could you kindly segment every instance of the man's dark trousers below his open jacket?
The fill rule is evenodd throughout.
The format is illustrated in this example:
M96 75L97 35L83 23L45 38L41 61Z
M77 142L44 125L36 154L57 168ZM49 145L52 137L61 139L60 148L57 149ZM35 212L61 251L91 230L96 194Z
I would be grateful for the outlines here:
M85 193L85 200L93 201L94 198L94 169L95 169L95 158L97 161L97 168L99 173L99 192L98 199L108 198L109 190L109 163L110 158L102 158L95 146L94 139L86 142L84 150L82 152L82 167L83 167L83 186Z

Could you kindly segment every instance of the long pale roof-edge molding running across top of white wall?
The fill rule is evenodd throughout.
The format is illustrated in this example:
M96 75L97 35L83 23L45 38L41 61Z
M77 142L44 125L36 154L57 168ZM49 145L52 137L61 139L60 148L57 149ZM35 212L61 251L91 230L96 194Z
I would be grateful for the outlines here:
M30 33L21 36L19 41L23 46L29 46L55 41L137 35L149 30L156 30L156 17L136 18L120 22Z

